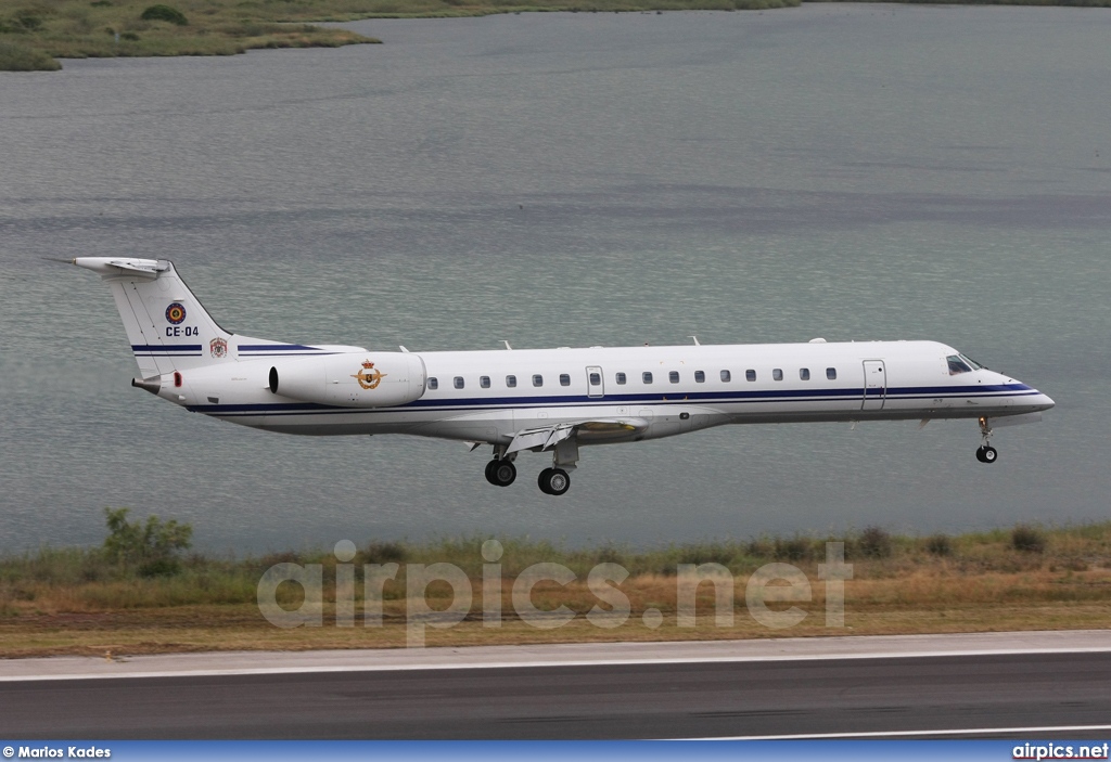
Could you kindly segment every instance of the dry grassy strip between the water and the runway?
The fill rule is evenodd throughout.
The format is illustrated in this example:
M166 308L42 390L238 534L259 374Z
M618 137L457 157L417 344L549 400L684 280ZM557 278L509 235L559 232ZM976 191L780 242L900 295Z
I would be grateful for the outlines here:
M1111 627L1111 522L1055 529L1018 527L954 537L889 536L869 529L842 538L757 538L745 541L665 546L649 550L604 545L568 549L520 538L500 540L500 568L483 589L486 538L423 543L371 542L351 560L354 573L352 627L337 626L336 572L331 551L271 553L246 559L192 556L172 575L144 577L108 560L100 549L42 549L0 559L0 658L57 654L123 656L220 650L310 650L401 648L407 611L417 598L407 590L413 565L450 563L471 589L469 614L452 627L426 631L429 646L553 643L587 641L717 640L843 634L982 632L994 630L1105 629ZM828 627L827 582L821 579L827 540L845 543L852 577L844 582L844 628ZM368 607L363 565L399 565L382 588L381 627L364 627ZM548 580L529 597L532 606L567 607L564 626L539 629L517 612L513 583L534 563L570 569L567 585ZM322 626L282 629L257 602L259 580L274 563L322 568ZM629 572L610 585L629 601L617 627L592 623L589 612L604 606L588 575L600 563ZM715 588L697 588L697 621L679 619L675 572L680 563L720 563L732 585L731 606L718 606ZM801 623L783 629L761 623L747 607L750 577L768 563L797 567L810 595L795 602L768 603L773 611L795 606ZM611 567L612 568L612 567ZM493 580L491 582L491 580ZM420 606L442 611L453 598L447 582L414 588ZM499 591L499 592L496 592ZM501 601L498 627L483 623L483 600ZM297 610L303 591L283 583L278 601ZM648 613L645 613L648 612ZM658 612L658 613L652 613ZM715 619L729 613L732 621ZM611 622L612 623L612 622Z

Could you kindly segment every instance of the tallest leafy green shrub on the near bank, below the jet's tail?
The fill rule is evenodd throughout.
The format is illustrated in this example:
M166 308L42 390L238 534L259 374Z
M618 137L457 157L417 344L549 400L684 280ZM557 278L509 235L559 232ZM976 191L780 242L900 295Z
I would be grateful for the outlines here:
M178 551L192 545L193 528L174 519L148 516L146 522L128 521L127 508L106 508L104 518L104 555L117 563L138 567L143 577L176 573L180 569Z

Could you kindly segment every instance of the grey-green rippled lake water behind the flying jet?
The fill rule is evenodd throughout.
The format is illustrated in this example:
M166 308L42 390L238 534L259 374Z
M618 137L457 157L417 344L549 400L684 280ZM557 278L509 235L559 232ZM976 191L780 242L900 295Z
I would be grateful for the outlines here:
M0 77L0 550L103 509L213 551L634 546L1107 520L1111 10L368 20L382 45ZM725 427L526 454L294 438L129 386L110 293L171 258L227 328L412 350L931 338L1052 396L974 421Z

